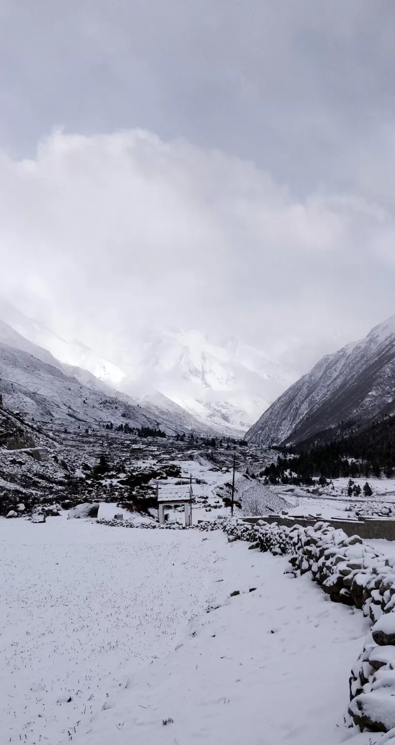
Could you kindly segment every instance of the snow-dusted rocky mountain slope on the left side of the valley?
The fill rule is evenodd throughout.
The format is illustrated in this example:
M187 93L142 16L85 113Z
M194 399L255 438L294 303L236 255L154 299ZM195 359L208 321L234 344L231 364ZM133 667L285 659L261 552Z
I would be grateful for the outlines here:
M213 434L165 396L155 405L132 400L88 371L62 365L2 322L0 392L8 410L21 411L28 421L42 425L56 421L65 428L103 428L127 422L136 428L160 426L168 434Z

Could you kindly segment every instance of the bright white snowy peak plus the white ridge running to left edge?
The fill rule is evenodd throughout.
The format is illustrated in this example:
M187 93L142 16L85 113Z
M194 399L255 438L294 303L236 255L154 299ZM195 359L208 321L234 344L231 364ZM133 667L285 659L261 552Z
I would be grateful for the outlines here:
M157 407L160 393L205 427L232 436L243 436L296 378L260 350L233 337L215 338L198 331L147 332L120 345L109 361L1 299L0 318L57 360L88 370L140 405L150 402Z

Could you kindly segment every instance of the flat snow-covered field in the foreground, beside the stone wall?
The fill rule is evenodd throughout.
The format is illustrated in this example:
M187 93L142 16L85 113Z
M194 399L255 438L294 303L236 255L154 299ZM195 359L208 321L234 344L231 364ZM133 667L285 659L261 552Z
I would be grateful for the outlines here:
M284 575L285 558L219 531L54 518L1 519L0 560L1 745L349 735L348 676L367 621L308 576Z

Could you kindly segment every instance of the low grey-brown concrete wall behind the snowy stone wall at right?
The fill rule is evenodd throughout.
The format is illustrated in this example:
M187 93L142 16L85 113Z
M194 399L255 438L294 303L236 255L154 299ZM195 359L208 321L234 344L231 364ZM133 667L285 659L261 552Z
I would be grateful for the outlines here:
M258 520L265 520L266 522L272 523L277 522L279 525L285 525L286 527L292 527L293 525L301 525L307 527L307 525L315 525L319 520L323 522L329 522L333 527L341 527L347 536L358 535L361 538L376 539L385 538L388 541L395 541L395 520L381 519L381 518L370 518L365 520L337 520L327 518L306 518L306 517L287 517L284 515L269 515L263 517L245 517L244 522L251 524L256 523Z

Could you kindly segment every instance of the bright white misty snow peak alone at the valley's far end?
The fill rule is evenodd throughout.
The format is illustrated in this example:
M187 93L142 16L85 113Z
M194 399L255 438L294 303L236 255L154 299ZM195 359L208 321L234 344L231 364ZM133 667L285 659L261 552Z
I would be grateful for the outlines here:
M293 380L285 367L232 337L212 339L197 331L155 332L143 337L133 358L123 352L126 378L164 393L202 422L243 433Z

